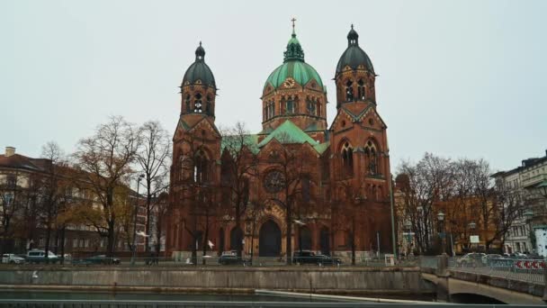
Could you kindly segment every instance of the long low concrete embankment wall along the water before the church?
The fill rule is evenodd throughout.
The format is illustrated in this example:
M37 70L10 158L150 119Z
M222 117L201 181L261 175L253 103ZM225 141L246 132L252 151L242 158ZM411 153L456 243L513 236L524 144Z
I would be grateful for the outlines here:
M21 267L0 269L2 285L148 286L160 289L270 289L349 293L432 293L419 268Z

